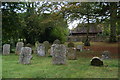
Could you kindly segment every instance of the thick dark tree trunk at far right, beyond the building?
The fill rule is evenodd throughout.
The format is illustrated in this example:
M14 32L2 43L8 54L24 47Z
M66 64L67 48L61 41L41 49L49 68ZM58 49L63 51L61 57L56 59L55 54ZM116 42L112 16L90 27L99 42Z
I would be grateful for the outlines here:
M117 3L110 3L110 42L116 42Z

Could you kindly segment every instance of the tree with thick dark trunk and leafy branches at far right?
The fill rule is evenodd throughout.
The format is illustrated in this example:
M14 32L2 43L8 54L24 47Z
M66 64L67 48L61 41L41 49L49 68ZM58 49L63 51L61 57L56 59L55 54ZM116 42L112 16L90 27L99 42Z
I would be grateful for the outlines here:
M101 23L105 23L107 21L110 24L110 42L116 42L116 31L117 31L117 23L119 23L119 3L118 2L101 2L99 3L98 13L102 19ZM117 29L116 29L117 28Z

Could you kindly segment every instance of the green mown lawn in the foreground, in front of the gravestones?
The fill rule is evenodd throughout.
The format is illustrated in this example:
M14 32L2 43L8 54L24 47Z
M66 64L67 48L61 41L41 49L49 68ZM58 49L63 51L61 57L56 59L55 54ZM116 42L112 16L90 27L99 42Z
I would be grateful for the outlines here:
M90 66L90 59L78 57L66 65L53 65L51 57L33 54L30 65L18 63L18 55L2 57L3 78L118 78L118 60L105 60L104 67ZM106 66L108 65L108 66Z

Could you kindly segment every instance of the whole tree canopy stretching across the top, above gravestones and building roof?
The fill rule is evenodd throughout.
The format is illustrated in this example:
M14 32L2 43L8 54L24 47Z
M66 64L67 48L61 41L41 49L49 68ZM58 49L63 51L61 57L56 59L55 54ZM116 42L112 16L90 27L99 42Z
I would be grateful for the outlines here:
M55 39L64 43L69 34L68 24L74 20L87 23L87 33L89 23L108 25L104 26L104 33L114 42L120 34L119 8L116 2L3 2L3 43L23 40L34 44Z

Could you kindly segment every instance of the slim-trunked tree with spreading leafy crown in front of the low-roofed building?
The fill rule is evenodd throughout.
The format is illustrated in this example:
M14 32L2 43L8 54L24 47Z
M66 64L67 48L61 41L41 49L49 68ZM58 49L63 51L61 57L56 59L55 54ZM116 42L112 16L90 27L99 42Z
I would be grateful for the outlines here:
M68 7L63 8L63 12L65 12L69 20L83 20L82 23L88 24L87 25L87 35L86 40L84 42L85 46L90 46L90 39L89 39L89 24L95 23L97 14L96 11L96 4L95 3L84 3L84 2L73 2L68 3Z

